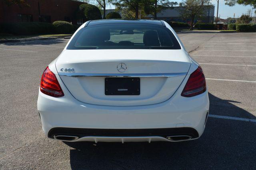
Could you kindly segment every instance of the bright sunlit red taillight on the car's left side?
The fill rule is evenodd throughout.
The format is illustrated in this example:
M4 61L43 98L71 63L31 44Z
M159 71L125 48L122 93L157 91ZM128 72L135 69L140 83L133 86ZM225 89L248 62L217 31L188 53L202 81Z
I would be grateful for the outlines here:
M48 96L62 97L64 93L55 74L47 66L41 78L40 91Z

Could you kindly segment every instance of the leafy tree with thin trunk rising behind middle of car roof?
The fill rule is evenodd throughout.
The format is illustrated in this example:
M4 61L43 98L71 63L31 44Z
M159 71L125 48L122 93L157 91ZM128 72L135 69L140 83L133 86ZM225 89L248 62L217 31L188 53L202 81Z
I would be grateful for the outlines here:
M135 19L139 18L139 10L142 9L142 0L114 0L113 5L117 10L127 9L135 13Z

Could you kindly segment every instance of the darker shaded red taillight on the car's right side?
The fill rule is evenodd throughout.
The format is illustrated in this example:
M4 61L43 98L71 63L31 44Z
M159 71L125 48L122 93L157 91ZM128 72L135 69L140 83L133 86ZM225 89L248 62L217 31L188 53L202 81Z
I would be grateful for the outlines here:
M203 70L200 66L190 74L181 96L192 97L206 91L206 83Z

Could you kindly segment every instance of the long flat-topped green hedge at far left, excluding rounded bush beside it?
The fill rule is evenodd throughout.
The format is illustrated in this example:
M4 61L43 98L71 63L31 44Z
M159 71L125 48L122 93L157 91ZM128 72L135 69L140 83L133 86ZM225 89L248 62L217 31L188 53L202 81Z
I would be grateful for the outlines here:
M51 23L44 22L9 22L2 23L2 32L14 35L36 35L54 33Z

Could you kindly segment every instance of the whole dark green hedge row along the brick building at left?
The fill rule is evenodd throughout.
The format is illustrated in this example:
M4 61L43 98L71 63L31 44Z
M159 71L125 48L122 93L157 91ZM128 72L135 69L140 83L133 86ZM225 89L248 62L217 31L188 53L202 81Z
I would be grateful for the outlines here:
M2 33L14 35L37 35L50 33L72 33L78 27L66 21L44 22L10 22L0 23Z

